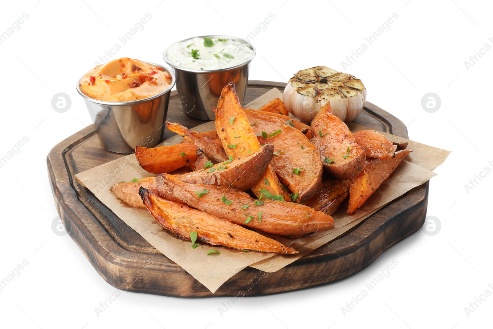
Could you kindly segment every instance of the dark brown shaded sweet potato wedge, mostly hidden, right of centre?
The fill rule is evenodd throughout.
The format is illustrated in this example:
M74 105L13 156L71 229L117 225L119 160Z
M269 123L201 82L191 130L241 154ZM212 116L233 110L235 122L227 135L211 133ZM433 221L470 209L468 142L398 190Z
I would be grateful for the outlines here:
M330 178L322 181L316 195L306 205L332 216L347 196L349 180Z

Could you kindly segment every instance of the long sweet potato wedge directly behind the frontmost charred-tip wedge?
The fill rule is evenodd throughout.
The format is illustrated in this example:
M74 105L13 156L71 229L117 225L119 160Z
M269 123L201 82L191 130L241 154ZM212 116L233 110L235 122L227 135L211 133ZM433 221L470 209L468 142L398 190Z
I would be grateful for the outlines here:
M331 216L300 203L262 199L260 201L263 204L255 206L259 200L230 187L183 183L168 174L156 177L156 181L168 187L163 192L173 191L171 196L179 198L191 207L264 232L293 236L334 228L334 219ZM209 193L197 197L194 191L204 189ZM167 198L167 196L163 197ZM248 207L244 209L242 206ZM259 212L261 212L260 221ZM249 216L253 216L250 221L248 221Z

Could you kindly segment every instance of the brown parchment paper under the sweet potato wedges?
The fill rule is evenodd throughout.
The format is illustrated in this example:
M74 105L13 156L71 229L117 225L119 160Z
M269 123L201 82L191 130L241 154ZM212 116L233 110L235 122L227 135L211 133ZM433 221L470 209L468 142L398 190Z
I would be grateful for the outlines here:
M282 99L282 93L274 88L260 98L245 105L245 107L258 109L271 99L278 97ZM214 128L214 122L211 121L194 128L194 130L205 132ZM350 126L350 129L360 130L364 128L354 125ZM404 140L401 137L389 134L385 135L390 140ZM182 137L177 135L160 145L173 145L181 139ZM273 236L285 245L295 248L300 252L297 255L278 255L255 251L242 252L202 243L196 249L191 248L191 242L189 240L180 239L167 230L164 230L146 209L136 209L127 206L109 190L117 182L130 181L133 178L141 179L150 175L139 166L134 154L78 173L76 177L83 186L94 193L122 221L136 230L163 255L183 267L183 269L214 293L230 277L248 265L264 271L267 268L270 268L268 269L269 272L277 271L347 230L350 230L394 198L403 195L433 177L435 174L431 170L443 163L450 153L412 141L410 141L408 148L413 150L413 153L416 153L416 155L411 157L413 155L411 153L407 158L409 161L403 161L387 179L387 182L382 184L360 209L351 215L345 213L345 209L339 209L334 214L335 230L317 232L312 236L305 236L298 239L265 234L267 236ZM212 254L208 256L207 251L210 249L217 249L220 255ZM265 266L265 263L268 262L266 260L271 258L275 258L275 265L272 266L271 263L271 266Z

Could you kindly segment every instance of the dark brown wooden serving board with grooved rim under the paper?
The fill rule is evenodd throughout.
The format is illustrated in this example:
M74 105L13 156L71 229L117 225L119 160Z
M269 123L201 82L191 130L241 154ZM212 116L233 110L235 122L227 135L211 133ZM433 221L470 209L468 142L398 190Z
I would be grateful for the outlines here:
M285 84L249 81L245 104ZM176 91L171 94L168 121L193 128L204 121L180 111ZM367 102L353 121L376 130L408 137L404 124ZM175 133L166 131L165 138ZM56 145L48 154L50 184L58 213L70 237L112 286L139 293L176 297L259 296L325 284L357 273L385 250L419 230L426 217L428 185L418 186L387 204L339 238L282 268L263 276L246 267L212 294L205 286L152 247L106 208L89 190L78 184L75 174L122 157L101 146L91 125ZM143 275L145 269L145 274ZM286 278L289 278L287 280ZM254 281L252 281L254 282Z

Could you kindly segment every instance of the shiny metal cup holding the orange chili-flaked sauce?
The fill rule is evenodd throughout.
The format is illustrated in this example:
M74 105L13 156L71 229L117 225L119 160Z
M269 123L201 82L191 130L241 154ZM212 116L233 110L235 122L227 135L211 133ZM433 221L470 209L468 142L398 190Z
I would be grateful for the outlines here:
M85 74L77 80L77 92L84 98L99 140L108 151L132 153L136 146L154 147L164 139L163 126L175 74L166 66L145 63L162 67L172 78L168 89L146 99L122 102L92 99L80 91L80 81Z

